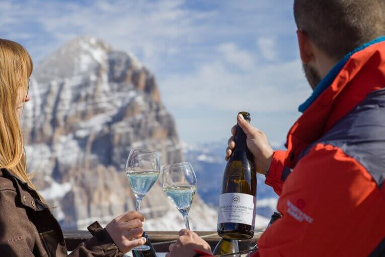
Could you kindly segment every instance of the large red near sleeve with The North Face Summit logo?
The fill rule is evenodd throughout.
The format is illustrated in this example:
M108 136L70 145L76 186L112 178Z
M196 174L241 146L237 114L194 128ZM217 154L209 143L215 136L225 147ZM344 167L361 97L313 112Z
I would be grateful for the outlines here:
M318 144L287 178L282 218L263 233L255 256L367 256L385 236L383 203L358 161Z

